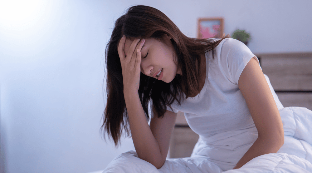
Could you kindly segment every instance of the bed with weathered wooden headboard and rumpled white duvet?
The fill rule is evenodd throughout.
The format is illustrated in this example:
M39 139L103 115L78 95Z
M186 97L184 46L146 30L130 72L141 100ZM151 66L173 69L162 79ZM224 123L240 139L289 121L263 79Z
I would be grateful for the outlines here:
M198 142L198 135L192 133L181 114L173 132L169 151L171 158L160 169L139 159L135 151L128 151L116 157L104 171L96 173L312 173L312 53L256 56L284 106L279 108L279 112L285 143L277 153L258 156L240 169L222 171L205 158L190 157L194 146L202 146Z

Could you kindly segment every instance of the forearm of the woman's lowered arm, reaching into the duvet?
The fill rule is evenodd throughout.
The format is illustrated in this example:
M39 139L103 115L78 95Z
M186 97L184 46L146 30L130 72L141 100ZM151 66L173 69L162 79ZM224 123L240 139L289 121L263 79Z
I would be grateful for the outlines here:
M233 169L240 168L245 165L251 159L269 153L276 153L280 147L284 143L283 137L277 137L275 139L261 139L257 138L257 140L252 144L249 150L245 153L245 155L237 162L237 164L233 167ZM274 142L272 142L274 141Z

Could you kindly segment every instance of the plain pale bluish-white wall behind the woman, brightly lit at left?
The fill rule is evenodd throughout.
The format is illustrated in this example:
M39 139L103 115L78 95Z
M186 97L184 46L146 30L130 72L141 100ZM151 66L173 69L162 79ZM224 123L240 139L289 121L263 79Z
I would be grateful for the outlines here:
M114 21L132 5L159 9L189 37L196 37L197 17L223 17L226 34L236 28L251 33L254 53L312 52L310 0L39 2L18 8L22 1L15 3L6 11L11 14L1 17L1 145L7 173L96 171L134 150L131 139L115 149L99 134L106 103L102 55ZM10 9L3 3L0 11ZM14 9L22 20L13 16ZM37 13L25 15L29 11Z

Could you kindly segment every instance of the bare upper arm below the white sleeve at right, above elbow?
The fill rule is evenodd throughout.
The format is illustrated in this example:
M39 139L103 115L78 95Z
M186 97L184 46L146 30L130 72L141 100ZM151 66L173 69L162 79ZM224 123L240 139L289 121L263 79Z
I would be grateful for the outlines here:
M270 87L254 58L247 63L238 79L238 87L244 96L252 119L263 139L280 138L284 142L283 124Z

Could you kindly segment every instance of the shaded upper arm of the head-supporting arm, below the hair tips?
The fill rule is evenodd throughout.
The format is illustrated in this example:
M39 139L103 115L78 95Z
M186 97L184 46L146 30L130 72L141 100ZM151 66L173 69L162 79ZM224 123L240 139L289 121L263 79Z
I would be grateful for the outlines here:
M170 137L173 132L177 113L166 111L162 118L158 118L157 112L153 106L154 118L151 119L150 129L158 142L160 153L163 161L165 161L170 144Z

